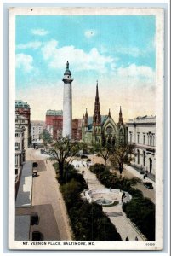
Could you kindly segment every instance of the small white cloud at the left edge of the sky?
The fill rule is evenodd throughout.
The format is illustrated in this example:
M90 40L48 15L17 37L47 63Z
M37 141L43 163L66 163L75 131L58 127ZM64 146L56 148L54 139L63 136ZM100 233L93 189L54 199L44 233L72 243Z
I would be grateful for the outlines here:
M26 73L31 72L33 66L33 58L31 55L17 54L16 55L16 67L23 69Z

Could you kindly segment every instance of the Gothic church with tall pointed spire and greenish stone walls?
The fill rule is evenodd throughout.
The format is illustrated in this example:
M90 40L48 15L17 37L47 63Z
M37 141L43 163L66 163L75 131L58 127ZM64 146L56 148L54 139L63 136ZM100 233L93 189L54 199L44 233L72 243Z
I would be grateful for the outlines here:
M96 95L94 102L94 114L88 116L88 109L83 115L82 125L82 141L84 143L110 143L115 145L117 143L127 143L127 126L123 123L123 113L120 107L119 119L116 124L111 117L111 110L107 115L100 114L100 97L98 82L96 84Z

